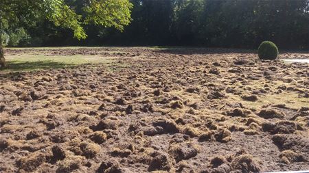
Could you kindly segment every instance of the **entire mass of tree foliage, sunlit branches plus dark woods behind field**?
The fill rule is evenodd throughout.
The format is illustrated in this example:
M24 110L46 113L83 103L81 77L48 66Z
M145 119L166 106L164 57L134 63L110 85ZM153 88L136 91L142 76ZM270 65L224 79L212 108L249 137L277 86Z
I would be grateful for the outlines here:
M256 49L271 40L282 49L309 48L309 0L2 0L3 4L1 23L10 23L4 31L12 40L10 46ZM85 40L78 40L86 34Z

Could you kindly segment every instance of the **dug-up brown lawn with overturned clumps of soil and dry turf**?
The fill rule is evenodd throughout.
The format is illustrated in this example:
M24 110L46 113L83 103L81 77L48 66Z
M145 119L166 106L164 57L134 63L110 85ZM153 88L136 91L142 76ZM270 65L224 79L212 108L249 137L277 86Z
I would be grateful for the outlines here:
M309 65L229 49L10 49L108 64L0 72L0 172L309 170ZM309 57L284 53L279 58Z

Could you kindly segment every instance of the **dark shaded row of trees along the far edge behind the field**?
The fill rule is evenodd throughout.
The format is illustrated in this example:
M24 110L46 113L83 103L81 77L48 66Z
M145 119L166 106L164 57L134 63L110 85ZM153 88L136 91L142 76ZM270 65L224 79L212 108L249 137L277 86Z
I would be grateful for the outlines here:
M88 1L65 0L71 10L83 17L89 13L83 10ZM130 3L133 4L133 20L123 31L108 27L108 23L82 24L88 38L80 41L71 38L71 29L56 27L50 20L43 20L35 27L28 27L26 34L19 30L20 37L11 34L14 38L11 44L185 45L255 49L263 40L271 40L284 49L309 48L309 0L130 0Z

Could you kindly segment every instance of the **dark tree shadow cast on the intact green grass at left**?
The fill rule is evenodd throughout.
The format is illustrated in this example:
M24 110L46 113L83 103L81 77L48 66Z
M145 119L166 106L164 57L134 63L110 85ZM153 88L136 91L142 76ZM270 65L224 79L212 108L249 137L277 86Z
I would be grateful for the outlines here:
M32 71L32 70L67 68L68 66L73 66L73 64L63 64L60 62L52 62L52 61L38 61L38 62L8 61L7 66L5 68L2 68L0 71L8 71L8 72Z

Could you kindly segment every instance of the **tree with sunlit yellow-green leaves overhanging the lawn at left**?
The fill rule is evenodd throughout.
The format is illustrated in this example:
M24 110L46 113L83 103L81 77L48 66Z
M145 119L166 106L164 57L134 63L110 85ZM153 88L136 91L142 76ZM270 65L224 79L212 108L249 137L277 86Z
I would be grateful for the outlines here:
M70 4L75 0L1 0L0 1L0 65L5 66L2 35L12 28L36 25L47 19L57 27L73 31L75 38L87 38L84 26L93 24L115 27L122 31L130 23L132 3L128 0L80 0L77 11ZM81 3L82 2L82 3Z

